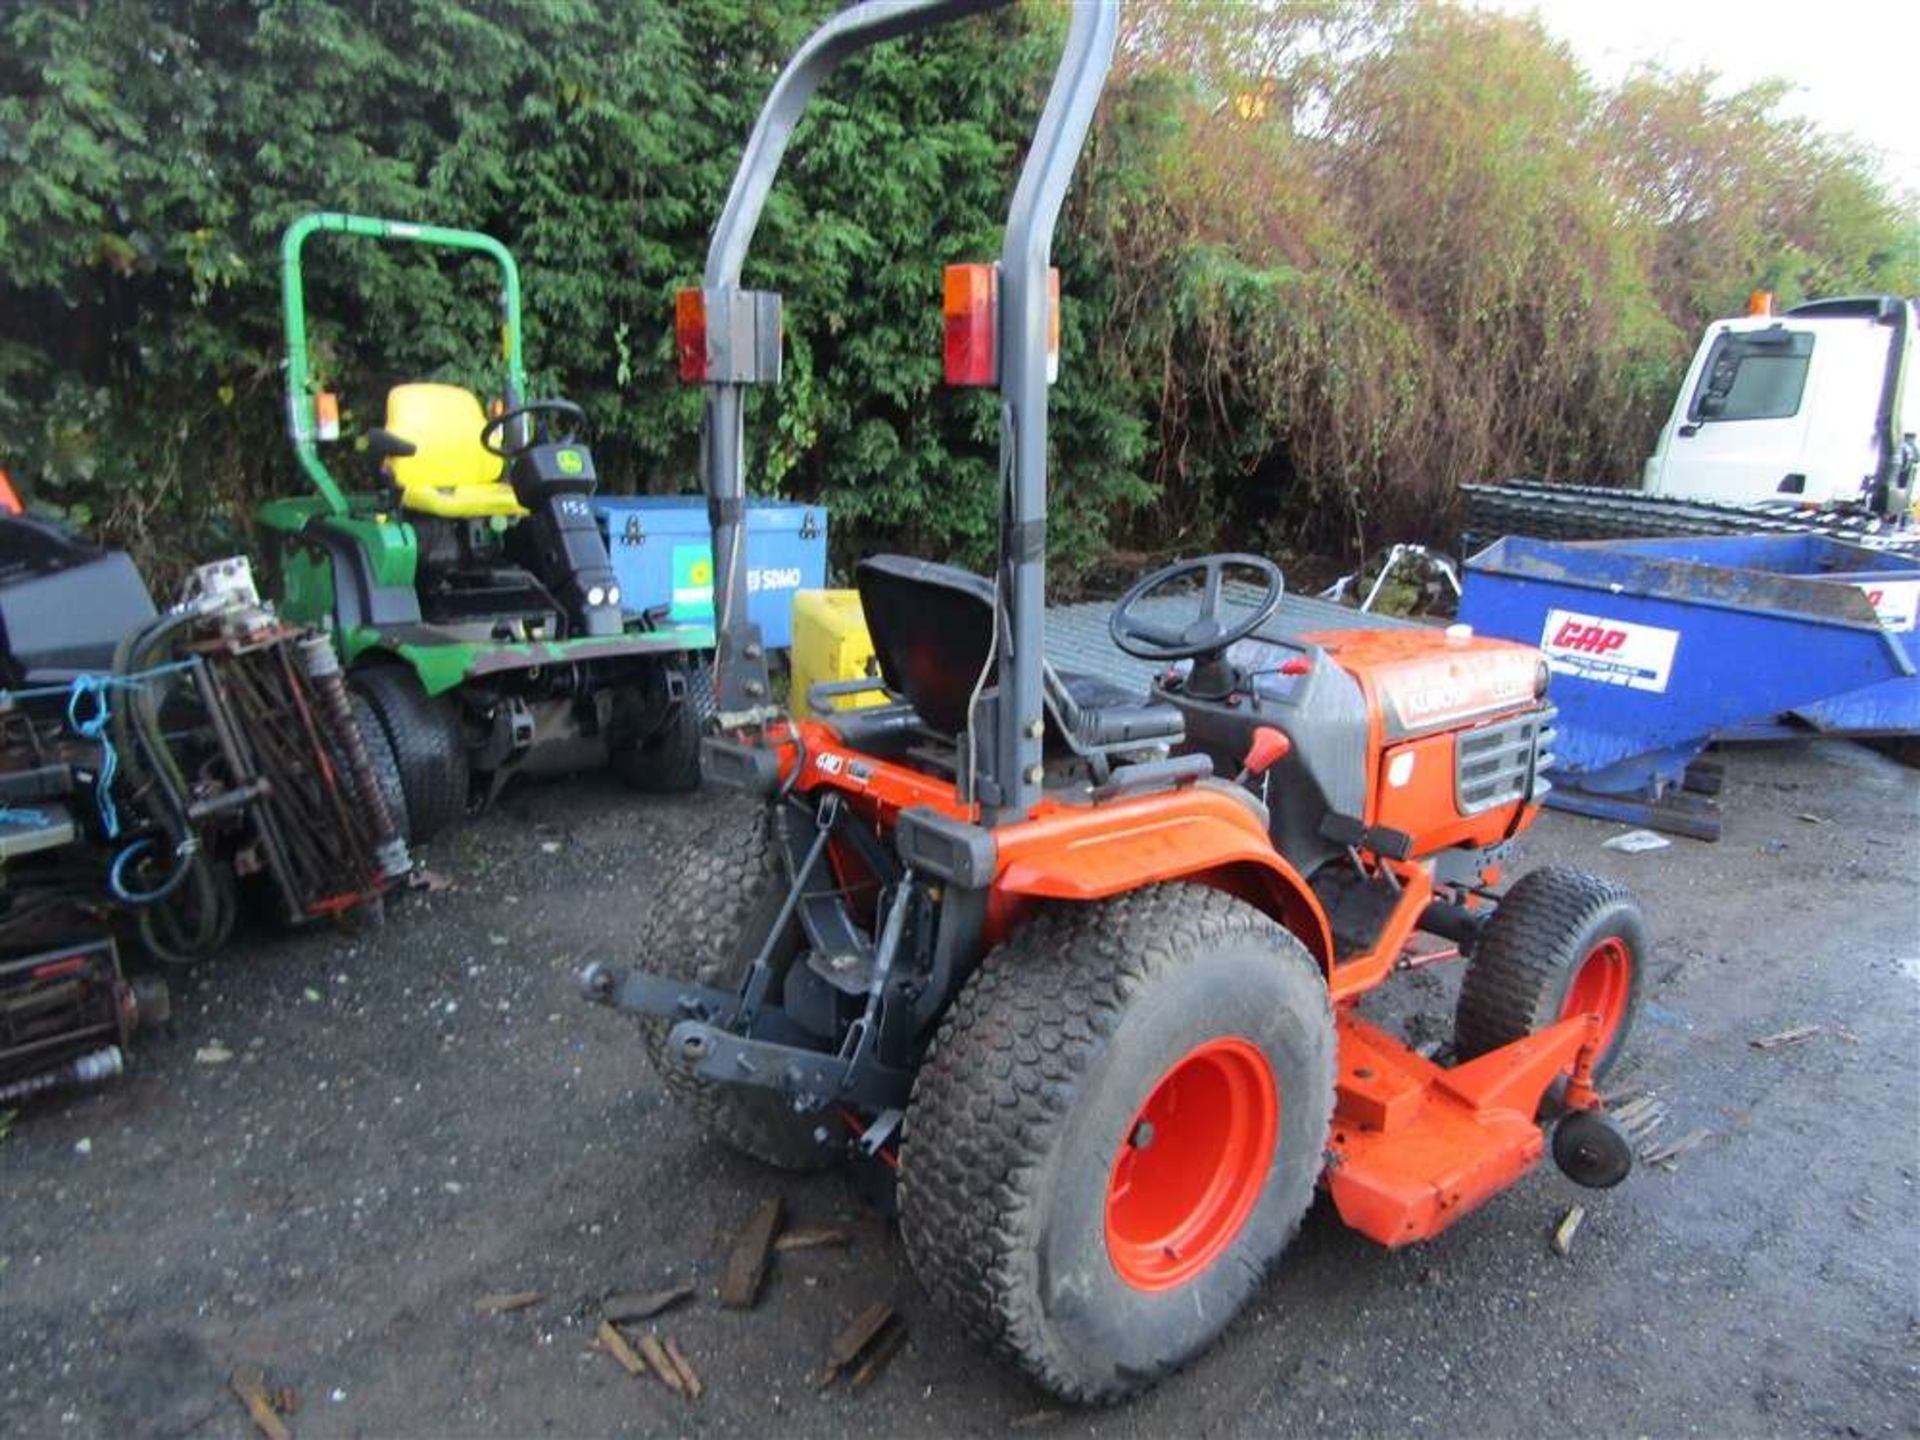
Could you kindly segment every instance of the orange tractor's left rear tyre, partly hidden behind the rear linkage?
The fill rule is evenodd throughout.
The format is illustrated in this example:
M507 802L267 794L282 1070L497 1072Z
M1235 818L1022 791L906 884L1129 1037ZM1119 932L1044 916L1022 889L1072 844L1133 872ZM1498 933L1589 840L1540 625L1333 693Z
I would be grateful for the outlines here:
M672 879L641 931L641 964L674 979L735 989L787 899L766 810L718 845L689 847L659 874ZM799 933L789 922L787 937L774 950L776 972L783 975L797 952ZM666 1089L735 1150L780 1169L822 1169L839 1160L841 1129L826 1112L797 1114L774 1091L699 1079L668 1050L668 1021L643 1020L639 1027L647 1058Z

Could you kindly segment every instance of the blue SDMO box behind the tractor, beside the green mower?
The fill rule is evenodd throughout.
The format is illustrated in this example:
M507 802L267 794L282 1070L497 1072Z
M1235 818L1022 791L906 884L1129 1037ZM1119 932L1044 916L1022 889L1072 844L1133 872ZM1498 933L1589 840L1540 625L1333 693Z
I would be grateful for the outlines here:
M595 495L628 611L668 607L676 624L714 624L712 530L703 495ZM747 501L747 614L768 647L793 643L793 591L828 578L828 513L785 499Z

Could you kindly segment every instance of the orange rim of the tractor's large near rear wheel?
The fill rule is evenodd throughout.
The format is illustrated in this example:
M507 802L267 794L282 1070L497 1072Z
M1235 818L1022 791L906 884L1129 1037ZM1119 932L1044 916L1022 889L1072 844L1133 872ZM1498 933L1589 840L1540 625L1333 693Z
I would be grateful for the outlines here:
M1171 1290L1246 1225L1273 1167L1281 1087L1248 1041L1188 1050L1148 1091L1106 1187L1106 1254L1135 1290Z

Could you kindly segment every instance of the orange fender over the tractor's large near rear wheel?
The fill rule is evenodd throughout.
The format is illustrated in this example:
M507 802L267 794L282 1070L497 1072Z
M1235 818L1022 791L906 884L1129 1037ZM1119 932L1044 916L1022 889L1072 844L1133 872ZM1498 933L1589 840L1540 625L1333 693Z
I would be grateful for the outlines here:
M995 833L995 910L1025 900L1104 900L1190 879L1258 906L1332 966L1327 912L1267 839L1258 810L1225 785L1192 785L1094 806L1064 806Z

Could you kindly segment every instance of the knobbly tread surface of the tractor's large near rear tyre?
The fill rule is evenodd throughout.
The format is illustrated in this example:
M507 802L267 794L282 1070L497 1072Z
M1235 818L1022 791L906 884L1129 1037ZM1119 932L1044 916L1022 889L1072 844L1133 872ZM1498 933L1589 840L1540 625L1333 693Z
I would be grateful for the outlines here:
M1283 1135L1267 1185L1288 1152L1300 1162L1261 1200L1273 1236L1258 1260L1235 1248L1200 1279L1238 1267L1238 1298L1179 1354L1106 1369L1062 1344L1035 1279L1050 1154L1069 1116L1121 1046L1110 1044L1135 1002L1165 995L1173 972L1258 937L1300 1006L1311 1054L1306 1085L1283 1087ZM1334 1100L1336 1043L1319 966L1260 910L1206 885L1175 883L1098 904L1039 912L985 956L939 1025L914 1083L900 1144L900 1235L931 1296L985 1346L1077 1404L1121 1400L1198 1354L1240 1309L1292 1242L1313 1198ZM1288 1137L1288 1125L1298 1137ZM1104 1188L1104 1171L1100 1175ZM1175 1290L1173 1294L1183 1294ZM1198 1304L1198 1302L1196 1302Z

